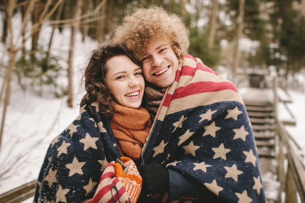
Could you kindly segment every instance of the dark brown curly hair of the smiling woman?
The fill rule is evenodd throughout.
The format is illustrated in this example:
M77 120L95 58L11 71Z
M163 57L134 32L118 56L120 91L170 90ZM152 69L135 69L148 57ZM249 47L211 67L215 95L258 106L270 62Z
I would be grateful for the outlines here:
M106 85L107 61L118 55L128 56L135 64L141 66L134 55L123 45L104 45L93 50L90 54L88 65L84 71L85 89L89 101L98 101L100 113L106 118L111 118L115 112L114 102L117 102ZM122 64L124 65L124 64Z

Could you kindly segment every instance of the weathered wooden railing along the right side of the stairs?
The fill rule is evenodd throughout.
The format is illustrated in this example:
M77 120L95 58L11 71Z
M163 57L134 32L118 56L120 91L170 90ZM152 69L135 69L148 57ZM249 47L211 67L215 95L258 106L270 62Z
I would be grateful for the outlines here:
M297 153L301 151L301 147L287 132L284 123L279 120L278 103L280 99L277 90L278 78L276 76L273 81L273 93L275 95L274 109L279 146L277 155L278 180L281 184L278 202L283 202L282 199L284 200L284 198L287 203L305 202L305 166L302 161L302 154Z

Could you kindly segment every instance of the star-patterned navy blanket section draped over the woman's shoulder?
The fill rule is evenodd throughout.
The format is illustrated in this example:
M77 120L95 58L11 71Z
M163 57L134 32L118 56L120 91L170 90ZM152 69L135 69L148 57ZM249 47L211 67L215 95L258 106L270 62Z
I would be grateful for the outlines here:
M80 106L80 115L47 150L34 202L95 201L92 198L97 189L98 195L104 191L103 182L99 183L106 166L112 161L120 162L109 121L98 113L98 103L90 103L85 96ZM121 184L113 184L117 191L111 189L111 194L103 193L104 198L109 197L106 202L116 202L124 197L119 194L126 193L121 191Z

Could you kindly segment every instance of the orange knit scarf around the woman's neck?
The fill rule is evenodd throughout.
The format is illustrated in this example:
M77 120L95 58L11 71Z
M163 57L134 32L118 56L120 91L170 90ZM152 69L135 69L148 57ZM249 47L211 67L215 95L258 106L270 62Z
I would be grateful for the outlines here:
M131 109L118 104L114 107L115 114L110 126L118 146L126 156L138 160L151 127L149 113L143 107Z

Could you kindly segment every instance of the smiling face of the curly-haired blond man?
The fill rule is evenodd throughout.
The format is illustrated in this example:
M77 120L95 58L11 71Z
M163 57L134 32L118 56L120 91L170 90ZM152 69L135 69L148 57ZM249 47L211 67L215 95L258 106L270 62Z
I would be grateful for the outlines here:
M147 82L157 87L168 87L174 80L178 69L178 58L165 40L151 42L144 55L143 74Z

